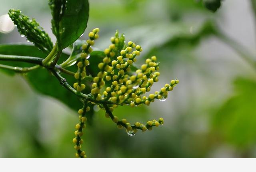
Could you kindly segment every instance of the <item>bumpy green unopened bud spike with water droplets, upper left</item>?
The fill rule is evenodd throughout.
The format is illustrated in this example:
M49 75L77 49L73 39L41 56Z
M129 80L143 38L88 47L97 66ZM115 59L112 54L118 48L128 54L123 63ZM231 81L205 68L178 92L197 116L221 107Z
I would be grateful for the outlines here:
M14 9L10 9L8 14L21 36L25 36L28 41L33 42L42 51L49 53L52 50L53 44L50 37L34 18L30 20L20 10Z

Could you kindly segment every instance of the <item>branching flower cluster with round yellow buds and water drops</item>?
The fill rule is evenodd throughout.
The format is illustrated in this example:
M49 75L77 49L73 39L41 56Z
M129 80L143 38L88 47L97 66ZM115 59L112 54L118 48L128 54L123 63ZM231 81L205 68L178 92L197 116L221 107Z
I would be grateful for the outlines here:
M81 80L86 76L85 67L89 65L89 60L86 57L92 52L91 45L94 45L94 40L98 38L98 32L98 28L90 32L88 35L90 39L85 45L82 45L83 52L77 63L78 71L74 75L78 80L74 83L74 88L78 92L85 88ZM85 113L90 110L88 103L96 103L106 111L105 116L111 118L118 128L124 127L129 135L134 135L138 129L143 132L152 130L152 127L162 125L164 120L160 118L158 121L152 120L146 124L136 122L131 125L126 119L118 120L118 117L112 114L114 108L118 105L130 105L131 107L141 104L150 105L155 99L164 101L168 96L168 91L172 91L179 83L178 79L171 80L160 91L148 96L144 95L151 90L152 85L158 81L160 75L158 72L160 63L157 62L156 56L146 59L145 64L137 69L133 63L136 62L136 58L142 52L141 46L131 41L126 44L124 35L119 37L118 32L110 40L112 44L104 50L106 56L98 64L99 72L93 78L91 93L88 95L93 101L86 100L83 109L78 111L80 123L76 125L76 138L73 140L76 144L76 156L78 157L85 157L84 152L80 150L82 140L80 137L82 136L82 128L85 126ZM132 72L134 68L135 70Z

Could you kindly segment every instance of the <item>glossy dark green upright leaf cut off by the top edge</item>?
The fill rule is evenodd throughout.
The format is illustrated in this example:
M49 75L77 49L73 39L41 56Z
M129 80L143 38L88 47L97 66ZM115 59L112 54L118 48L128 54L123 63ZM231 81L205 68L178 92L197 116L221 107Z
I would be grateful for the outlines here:
M88 0L49 0L52 11L52 32L57 38L58 51L75 42L87 27Z

